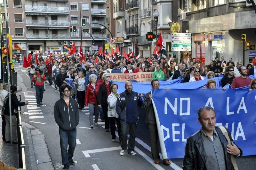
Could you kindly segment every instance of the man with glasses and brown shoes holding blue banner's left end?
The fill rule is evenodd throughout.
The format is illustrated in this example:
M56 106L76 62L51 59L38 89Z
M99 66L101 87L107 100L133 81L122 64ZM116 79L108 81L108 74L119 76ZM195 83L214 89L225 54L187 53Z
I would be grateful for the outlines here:
M158 80L152 80L151 81L151 87L152 89L159 89L160 83ZM166 88L166 90L169 90L169 88ZM158 151L158 145L157 145L157 139L158 139L158 132L157 132L157 126L156 126L156 117L155 112L152 104L152 93L148 92L144 96L143 100L143 109L146 111L146 123L148 123L148 129L149 129L149 135L150 135L150 143L151 143L151 153L152 157L154 159L155 164L159 164L159 151ZM169 159L164 159L164 165L170 165Z

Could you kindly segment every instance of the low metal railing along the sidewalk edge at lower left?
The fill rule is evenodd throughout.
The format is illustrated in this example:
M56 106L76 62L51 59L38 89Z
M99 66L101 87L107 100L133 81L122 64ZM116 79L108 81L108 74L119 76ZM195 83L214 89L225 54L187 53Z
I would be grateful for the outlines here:
M21 95L19 95L21 101ZM26 158L25 158L25 142L23 138L22 132L22 124L21 124L21 106L18 107L17 112L17 136L18 136L18 150L19 150L19 168L26 169Z

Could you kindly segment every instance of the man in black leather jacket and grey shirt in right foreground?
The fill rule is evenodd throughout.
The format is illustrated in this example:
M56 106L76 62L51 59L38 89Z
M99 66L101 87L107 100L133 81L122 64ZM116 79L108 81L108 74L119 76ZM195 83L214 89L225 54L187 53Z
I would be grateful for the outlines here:
M242 150L233 143L227 128L222 127L228 133L230 144L220 128L215 127L216 114L212 107L199 108L197 114L198 123L202 125L202 129L187 138L182 168L233 170L231 156L241 157Z

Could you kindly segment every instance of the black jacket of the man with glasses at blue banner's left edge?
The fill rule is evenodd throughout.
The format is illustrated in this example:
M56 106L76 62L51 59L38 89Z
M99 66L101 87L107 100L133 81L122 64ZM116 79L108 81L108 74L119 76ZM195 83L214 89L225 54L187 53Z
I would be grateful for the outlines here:
M144 95L144 100L143 100L143 109L146 111L146 119L145 122L149 124L156 124L156 117L155 117L155 112L153 108L152 101L149 98L151 92L148 92L147 94Z

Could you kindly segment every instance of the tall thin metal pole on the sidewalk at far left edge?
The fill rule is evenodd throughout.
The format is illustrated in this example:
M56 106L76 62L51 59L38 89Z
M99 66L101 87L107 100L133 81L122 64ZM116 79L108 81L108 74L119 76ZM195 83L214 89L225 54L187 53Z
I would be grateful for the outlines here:
M8 34L8 18L7 18L7 9L6 9L6 0L4 0L4 12L5 12L5 23L6 23L6 38L5 38L5 42L6 42L6 49L8 51L8 44L9 44L9 38L7 38L7 34ZM8 41L7 41L8 40ZM7 74L8 74L8 91L9 91L9 116L10 116L10 137L11 137L11 145L12 145L12 108L11 108L11 84L10 84L10 66L9 66L9 54L8 52L6 53L6 61L7 61ZM10 57L11 59L11 57Z

